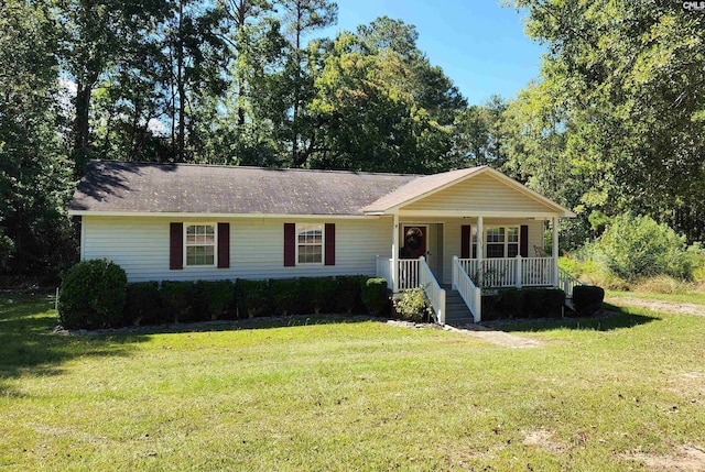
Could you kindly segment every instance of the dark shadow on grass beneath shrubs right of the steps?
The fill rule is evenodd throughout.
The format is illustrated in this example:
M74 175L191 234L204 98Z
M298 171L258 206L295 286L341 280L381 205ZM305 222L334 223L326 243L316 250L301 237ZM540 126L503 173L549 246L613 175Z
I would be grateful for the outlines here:
M485 321L481 325L505 332L539 332L556 329L612 331L660 320L661 318L655 316L637 315L629 309L603 304L603 309L592 317L511 319Z

